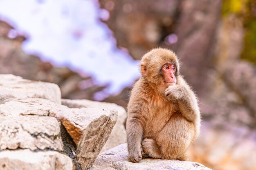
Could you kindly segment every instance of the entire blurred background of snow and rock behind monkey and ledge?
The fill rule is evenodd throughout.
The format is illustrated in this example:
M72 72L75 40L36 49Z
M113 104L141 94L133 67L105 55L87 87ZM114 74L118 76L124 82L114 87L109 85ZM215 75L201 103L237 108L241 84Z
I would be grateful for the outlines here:
M256 0L0 0L0 73L126 108L139 60L173 50L200 99L193 161L256 170Z

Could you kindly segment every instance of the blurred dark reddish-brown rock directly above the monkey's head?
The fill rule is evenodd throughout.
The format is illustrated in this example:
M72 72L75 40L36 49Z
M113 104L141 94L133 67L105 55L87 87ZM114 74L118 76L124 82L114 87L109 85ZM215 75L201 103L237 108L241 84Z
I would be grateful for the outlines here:
M110 11L108 26L119 46L127 48L135 59L159 46L172 32L178 0L99 0Z

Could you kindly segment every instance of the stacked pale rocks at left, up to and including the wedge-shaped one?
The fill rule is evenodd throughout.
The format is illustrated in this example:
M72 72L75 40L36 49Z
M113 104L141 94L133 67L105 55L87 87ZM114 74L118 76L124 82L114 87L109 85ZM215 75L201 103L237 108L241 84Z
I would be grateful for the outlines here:
M56 84L0 75L0 170L88 169L117 115L115 107L61 105Z

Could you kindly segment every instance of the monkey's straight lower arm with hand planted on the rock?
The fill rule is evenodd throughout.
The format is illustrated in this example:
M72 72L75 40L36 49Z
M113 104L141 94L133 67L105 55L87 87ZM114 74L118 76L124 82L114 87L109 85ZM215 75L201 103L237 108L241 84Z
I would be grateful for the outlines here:
M126 134L128 143L128 159L131 162L139 162L142 159L141 141L143 137L143 129L139 121L139 110L129 109L126 123Z

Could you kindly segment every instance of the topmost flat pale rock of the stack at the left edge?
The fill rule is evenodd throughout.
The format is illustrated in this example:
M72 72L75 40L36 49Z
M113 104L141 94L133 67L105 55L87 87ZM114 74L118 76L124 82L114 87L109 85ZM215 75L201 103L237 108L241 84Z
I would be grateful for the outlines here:
M43 98L61 104L60 88L53 83L34 82L14 75L0 75L0 104L13 99Z

